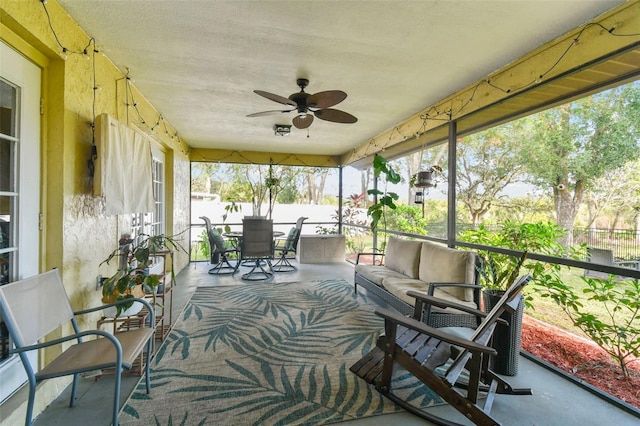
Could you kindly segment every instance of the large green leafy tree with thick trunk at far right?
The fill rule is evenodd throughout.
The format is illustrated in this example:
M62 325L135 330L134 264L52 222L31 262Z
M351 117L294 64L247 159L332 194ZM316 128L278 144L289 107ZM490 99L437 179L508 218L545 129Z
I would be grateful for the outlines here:
M552 108L527 119L530 137L521 161L533 182L552 191L558 225L573 227L585 191L608 171L637 159L640 128L638 84L621 86Z

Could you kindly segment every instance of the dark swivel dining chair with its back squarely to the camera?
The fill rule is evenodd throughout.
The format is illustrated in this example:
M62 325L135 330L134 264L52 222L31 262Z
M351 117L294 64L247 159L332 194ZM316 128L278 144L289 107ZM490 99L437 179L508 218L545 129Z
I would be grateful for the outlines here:
M273 220L245 217L242 220L239 264L250 265L251 270L242 275L249 281L267 280L273 277Z

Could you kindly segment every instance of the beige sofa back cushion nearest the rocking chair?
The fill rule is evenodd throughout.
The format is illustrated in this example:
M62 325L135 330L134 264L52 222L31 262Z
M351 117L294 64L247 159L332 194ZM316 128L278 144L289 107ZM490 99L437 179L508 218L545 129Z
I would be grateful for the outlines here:
M419 278L428 283L475 284L475 253L422 242ZM453 296L473 302L473 289L445 287Z

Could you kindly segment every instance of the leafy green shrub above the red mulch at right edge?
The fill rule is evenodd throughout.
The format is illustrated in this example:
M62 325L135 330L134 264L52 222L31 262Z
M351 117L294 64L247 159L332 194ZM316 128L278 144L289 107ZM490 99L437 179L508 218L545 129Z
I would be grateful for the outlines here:
M563 282L554 282L545 295L553 299L573 324L613 357L629 379L628 364L640 357L640 284L582 277L583 297ZM583 301L604 306L600 315L584 309Z

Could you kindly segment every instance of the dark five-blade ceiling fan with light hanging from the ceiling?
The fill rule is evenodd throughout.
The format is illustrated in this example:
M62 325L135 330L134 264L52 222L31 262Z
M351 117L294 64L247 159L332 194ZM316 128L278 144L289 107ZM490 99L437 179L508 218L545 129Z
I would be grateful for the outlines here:
M287 105L291 109L256 112L247 115L247 117L261 117L263 115L297 111L298 115L293 118L292 122L298 129L306 129L311 126L314 116L334 123L355 123L358 121L356 117L348 112L330 108L346 99L347 94L342 90L327 90L312 95L304 91L304 88L309 84L309 80L299 78L296 80L296 84L300 87L300 92L293 93L288 98L262 90L254 90L254 93L274 102Z

